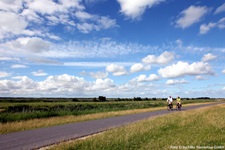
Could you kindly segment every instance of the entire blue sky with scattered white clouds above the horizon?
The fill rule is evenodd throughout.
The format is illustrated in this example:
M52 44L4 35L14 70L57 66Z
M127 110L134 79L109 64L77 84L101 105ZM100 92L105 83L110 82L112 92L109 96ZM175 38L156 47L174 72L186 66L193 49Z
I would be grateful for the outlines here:
M223 0L1 0L0 96L225 97Z

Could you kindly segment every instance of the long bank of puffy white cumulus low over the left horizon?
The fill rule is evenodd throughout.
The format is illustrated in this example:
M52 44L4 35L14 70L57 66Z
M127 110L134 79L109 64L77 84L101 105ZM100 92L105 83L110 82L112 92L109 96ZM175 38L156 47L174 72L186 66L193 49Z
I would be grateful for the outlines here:
M16 76L16 80L0 80L0 94L10 96L96 96L96 93L111 93L116 88L112 79L85 81L84 78L68 74L48 76L43 81L34 81L27 76Z

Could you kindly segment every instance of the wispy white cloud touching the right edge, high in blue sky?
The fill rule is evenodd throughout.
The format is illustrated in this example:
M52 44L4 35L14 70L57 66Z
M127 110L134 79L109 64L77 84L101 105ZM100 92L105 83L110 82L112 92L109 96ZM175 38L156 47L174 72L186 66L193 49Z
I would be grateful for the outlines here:
M200 34L206 34L208 33L212 28L219 28L224 29L225 28L225 17L221 18L218 22L210 22L208 24L202 24L200 26Z

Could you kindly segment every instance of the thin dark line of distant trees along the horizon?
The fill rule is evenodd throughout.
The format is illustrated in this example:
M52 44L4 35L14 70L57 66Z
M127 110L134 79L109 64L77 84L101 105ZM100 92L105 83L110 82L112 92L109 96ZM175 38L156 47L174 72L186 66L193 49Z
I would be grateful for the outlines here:
M176 99L176 98L174 98ZM210 97L197 97L197 98L181 98L182 100L209 100L214 99ZM94 98L34 98L34 97L0 97L0 102L104 102L104 101L151 101L151 100L167 100L167 98L106 98L99 96Z

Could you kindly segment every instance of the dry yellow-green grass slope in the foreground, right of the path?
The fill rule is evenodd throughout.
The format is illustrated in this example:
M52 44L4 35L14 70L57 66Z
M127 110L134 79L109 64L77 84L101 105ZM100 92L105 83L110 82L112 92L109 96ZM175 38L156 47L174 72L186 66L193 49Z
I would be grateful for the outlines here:
M225 149L225 105L181 111L69 141L52 150Z

